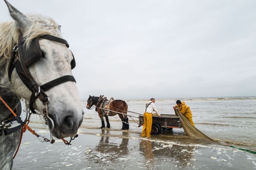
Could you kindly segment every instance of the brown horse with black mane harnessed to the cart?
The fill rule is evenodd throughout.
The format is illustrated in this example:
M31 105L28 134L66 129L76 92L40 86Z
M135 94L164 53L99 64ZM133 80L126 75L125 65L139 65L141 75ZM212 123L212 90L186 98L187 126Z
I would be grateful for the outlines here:
M109 109L111 111L114 111L114 112L110 111L107 114L106 111L100 109L103 105L102 102L103 102L103 96L99 96L99 97L89 96L89 98L87 100L87 105L86 105L87 109L90 109L93 105L96 106L95 111L98 112L99 118L101 118L101 128L105 127L105 122L103 120L103 117L105 117L105 119L106 119L107 128L110 128L110 124L109 124L109 121L108 121L108 116L114 116L114 115L118 114L116 112L120 112L120 113L123 113L123 114L118 114L120 119L122 120L122 123L123 123L122 130L129 129L128 117L127 117L127 115L125 115L127 113L127 110L128 110L127 103L125 101L122 101L122 100L114 100L114 101L110 102L109 103Z

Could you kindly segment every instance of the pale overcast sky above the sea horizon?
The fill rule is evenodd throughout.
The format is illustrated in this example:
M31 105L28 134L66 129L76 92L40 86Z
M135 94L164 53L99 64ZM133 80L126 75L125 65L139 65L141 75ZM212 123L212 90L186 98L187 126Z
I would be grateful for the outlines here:
M81 99L256 96L255 0L9 2L62 25Z

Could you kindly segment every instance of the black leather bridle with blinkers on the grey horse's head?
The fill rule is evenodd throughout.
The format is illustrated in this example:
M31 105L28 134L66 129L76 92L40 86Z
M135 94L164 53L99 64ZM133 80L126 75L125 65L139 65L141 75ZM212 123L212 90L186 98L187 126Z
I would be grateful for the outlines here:
M54 86L65 83L67 81L75 81L75 78L72 75L64 75L62 77L56 78L48 83L43 84L42 86L38 86L34 78L29 72L29 65L38 61L42 58L42 50L39 46L39 38L45 38L48 40L56 41L58 43L65 44L66 47L69 47L68 42L62 38L55 37L53 35L41 35L39 37L34 38L29 47L26 48L25 38L21 38L22 34L20 34L20 40L18 44L13 48L11 59L8 65L8 77L11 81L11 75L14 68L16 68L17 74L19 75L21 81L25 84L25 86L32 92L30 96L29 108L33 113L36 113L33 108L33 104L38 98L40 101L46 105L50 98L46 95L46 91L51 89ZM71 52L72 53L72 52ZM72 53L73 55L73 53ZM75 58L73 55L73 59L71 61L71 69L75 67Z

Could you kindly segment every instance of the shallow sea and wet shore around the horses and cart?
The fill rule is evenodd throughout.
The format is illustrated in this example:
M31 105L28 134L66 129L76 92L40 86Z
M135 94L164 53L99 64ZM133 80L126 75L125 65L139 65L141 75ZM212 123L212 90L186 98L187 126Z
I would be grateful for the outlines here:
M157 99L161 114L174 114L174 99ZM193 112L196 127L225 144L256 151L256 97L182 99ZM145 100L126 100L128 110L143 113ZM100 129L95 109L84 106L84 121L72 146L41 143L26 132L13 169L256 169L256 155L184 135L173 129L151 139L140 137L142 127L129 118L120 130L119 117ZM32 116L31 127L49 136L43 119Z

